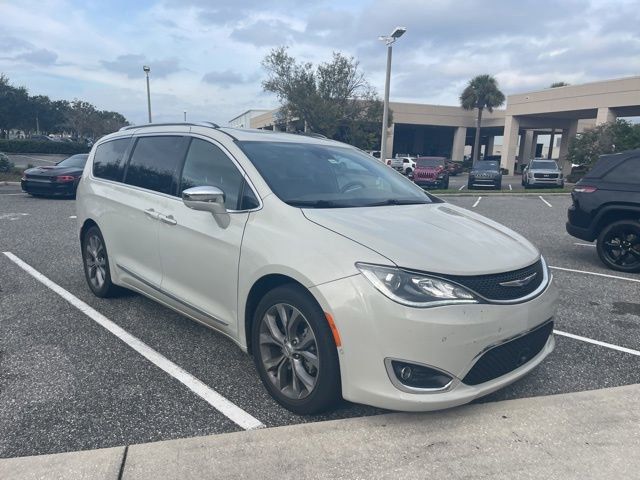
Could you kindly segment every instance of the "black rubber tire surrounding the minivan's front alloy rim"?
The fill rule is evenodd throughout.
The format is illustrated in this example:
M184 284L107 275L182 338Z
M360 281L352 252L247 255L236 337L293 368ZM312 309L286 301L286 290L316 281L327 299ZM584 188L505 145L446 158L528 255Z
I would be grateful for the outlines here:
M295 362L295 360L293 360L295 353L289 350L289 355L285 354L285 349L278 347L274 342L266 343L263 341L261 344L261 328L263 328L263 325L264 328L268 328L265 318L267 312L275 308L276 305L282 304L293 307L302 314L303 320L306 320L306 325L310 327L315 340L316 348L314 351L317 355L318 368L315 370L315 376L311 376L311 378L315 379L315 384L304 398L296 399L292 398L291 395L283 393L280 388L275 385L277 381L275 375L276 372L280 374L281 367L274 366L274 368L269 369L272 373L269 373L264 363L265 359L263 359L263 355L269 356L271 354L275 357L280 354L282 358L281 361L278 362L278 365L284 367L283 371L287 373L287 376L294 376L292 375L292 366L293 362ZM274 322L277 322L277 320L274 320ZM277 325L282 327L282 322L280 321ZM286 329L279 328L280 334L285 331ZM308 335L308 333L303 336L296 335L294 339L287 337L285 340L289 346L298 343L296 338L300 338L301 340L299 341L304 343L306 335ZM262 336L264 336L264 333ZM276 287L268 292L262 300L260 300L256 308L253 317L251 339L253 360L262 383L271 396L287 410L299 415L319 413L332 408L341 400L340 364L338 361L338 350L333 340L331 328L329 327L322 308L320 308L315 299L303 287L288 284ZM300 359L300 355L298 355L298 359ZM302 360L304 361L304 359ZM300 363L300 360L298 360L298 362ZM275 365L275 362L273 363ZM309 370L306 370L306 373L309 374ZM298 382L300 382L300 380L298 380Z

